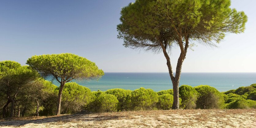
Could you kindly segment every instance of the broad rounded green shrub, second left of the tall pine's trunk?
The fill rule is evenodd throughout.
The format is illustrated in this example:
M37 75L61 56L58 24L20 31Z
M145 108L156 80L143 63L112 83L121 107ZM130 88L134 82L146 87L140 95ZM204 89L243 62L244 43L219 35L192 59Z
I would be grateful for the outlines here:
M131 92L129 97L132 110L155 109L158 95L152 89L139 88Z

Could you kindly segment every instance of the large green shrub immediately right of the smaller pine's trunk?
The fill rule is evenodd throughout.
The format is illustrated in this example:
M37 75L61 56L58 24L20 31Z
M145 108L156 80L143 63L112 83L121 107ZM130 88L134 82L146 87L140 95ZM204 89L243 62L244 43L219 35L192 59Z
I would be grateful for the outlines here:
M62 92L62 113L70 114L81 111L92 100L93 94L89 88L75 82L65 84Z

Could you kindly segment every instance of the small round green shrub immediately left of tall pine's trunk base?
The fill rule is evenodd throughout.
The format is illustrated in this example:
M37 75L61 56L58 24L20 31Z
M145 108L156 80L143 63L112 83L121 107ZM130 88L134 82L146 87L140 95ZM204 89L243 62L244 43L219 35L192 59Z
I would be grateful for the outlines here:
M173 105L173 95L162 94L158 98L157 107L162 110L169 110Z

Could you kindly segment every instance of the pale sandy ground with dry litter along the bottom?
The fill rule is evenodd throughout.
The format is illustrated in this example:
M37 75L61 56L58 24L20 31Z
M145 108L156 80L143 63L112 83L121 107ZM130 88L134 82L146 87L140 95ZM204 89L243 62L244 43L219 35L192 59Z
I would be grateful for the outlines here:
M128 111L14 118L1 127L246 127L256 128L256 109Z

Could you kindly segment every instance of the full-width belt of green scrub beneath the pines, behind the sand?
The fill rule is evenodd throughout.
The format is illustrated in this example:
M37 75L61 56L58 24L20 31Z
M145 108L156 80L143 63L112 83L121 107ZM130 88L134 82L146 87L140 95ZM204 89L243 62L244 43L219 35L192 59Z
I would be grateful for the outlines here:
M55 115L59 87L52 82L39 79L37 87L24 88L18 96L13 116ZM40 87L39 87L40 86ZM256 108L256 84L219 92L208 85L179 87L182 109L245 109ZM5 98L1 95L1 107ZM173 104L173 89L154 92L138 88L134 91L121 88L90 91L75 82L66 83L63 88L61 114L72 114L82 110L88 112L114 112L136 110L169 110ZM11 106L6 107L10 114ZM1 111L1 114L3 111ZM8 115L7 114L7 115Z

